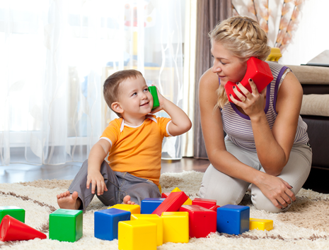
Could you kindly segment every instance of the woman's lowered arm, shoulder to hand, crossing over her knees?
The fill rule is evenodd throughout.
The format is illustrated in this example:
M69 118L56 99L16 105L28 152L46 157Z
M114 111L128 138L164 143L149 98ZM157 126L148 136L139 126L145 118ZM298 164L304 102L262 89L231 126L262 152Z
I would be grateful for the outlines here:
M286 181L243 164L226 150L221 114L219 109L214 111L218 87L218 78L211 69L200 78L201 126L207 154L212 165L230 177L255 184L277 208L282 208L282 205L285 207L287 203L295 201L294 193L289 190L291 186Z

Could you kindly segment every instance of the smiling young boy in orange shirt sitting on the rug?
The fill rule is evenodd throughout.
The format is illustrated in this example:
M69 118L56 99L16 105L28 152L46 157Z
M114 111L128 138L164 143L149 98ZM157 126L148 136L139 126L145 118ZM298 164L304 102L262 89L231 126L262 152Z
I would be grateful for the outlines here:
M178 136L192 124L182 109L158 93L153 107L142 73L113 73L103 86L106 103L120 118L110 122L93 145L88 160L69 186L57 195L59 208L86 210L96 194L105 206L141 204L144 198L161 197L161 146L164 136ZM163 109L171 119L156 117ZM108 155L108 162L104 158Z

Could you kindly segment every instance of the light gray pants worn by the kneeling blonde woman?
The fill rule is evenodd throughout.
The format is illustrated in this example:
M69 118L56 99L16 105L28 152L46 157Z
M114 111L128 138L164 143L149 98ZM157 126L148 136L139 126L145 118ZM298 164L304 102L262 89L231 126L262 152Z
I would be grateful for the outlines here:
M254 169L265 172L262 165L260 165L256 152L240 148L231 141L225 140L225 144L226 150L238 160ZM294 194L297 194L308 177L311 170L311 162L311 148L308 145L294 145L287 165L284 166L284 169L278 177L287 181L290 186L293 187L291 190ZM202 179L199 196L201 198L216 199L217 205L219 206L224 206L226 204L238 205L246 194L249 185L250 183L230 177L229 175L219 172L219 170L212 165L209 165ZM266 210L271 213L279 213L288 210L290 207L288 206L284 209L277 208L270 199L262 194L258 186L254 184L251 185L251 201L255 208Z

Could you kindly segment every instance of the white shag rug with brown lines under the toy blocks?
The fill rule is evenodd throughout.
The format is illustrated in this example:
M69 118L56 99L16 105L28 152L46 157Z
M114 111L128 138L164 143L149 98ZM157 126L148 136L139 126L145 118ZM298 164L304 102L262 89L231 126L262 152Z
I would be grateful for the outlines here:
M175 187L185 191L191 199L197 197L203 173L188 171L161 174L163 192ZM59 208L56 195L66 191L71 181L38 180L33 182L0 184L0 206L18 206L25 209L25 223L48 236L50 213ZM329 249L329 194L301 189L297 200L286 213L272 214L256 210L246 194L241 205L250 206L250 218L273 220L270 231L252 230L240 235L209 234L207 238L191 238L187 244L166 243L166 249ZM83 214L83 237L79 241L59 242L51 239L33 239L22 242L0 242L1 249L117 249L117 240L104 241L93 236L93 213L103 210L98 198Z

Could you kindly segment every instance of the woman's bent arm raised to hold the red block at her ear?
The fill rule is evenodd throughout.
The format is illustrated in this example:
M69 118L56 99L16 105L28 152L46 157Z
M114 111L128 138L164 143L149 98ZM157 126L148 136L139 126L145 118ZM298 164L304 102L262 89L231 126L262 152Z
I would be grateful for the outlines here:
M289 160L301 109L303 90L293 73L287 73L277 94L277 118L270 129L262 105L264 96L250 82L253 93L238 85L247 100L236 102L250 117L258 159L267 174L279 175ZM248 93L247 93L248 92ZM267 93L269 95L269 93Z

